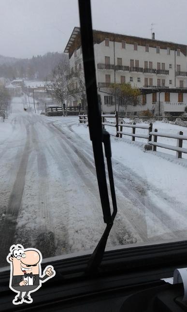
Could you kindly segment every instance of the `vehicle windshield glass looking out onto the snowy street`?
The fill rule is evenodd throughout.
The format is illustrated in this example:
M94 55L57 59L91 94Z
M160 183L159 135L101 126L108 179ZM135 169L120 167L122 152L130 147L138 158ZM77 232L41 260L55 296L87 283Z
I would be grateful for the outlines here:
M69 2L0 0L0 267L13 244L90 253L105 229ZM170 2L91 1L118 208L110 249L187 239L187 42Z

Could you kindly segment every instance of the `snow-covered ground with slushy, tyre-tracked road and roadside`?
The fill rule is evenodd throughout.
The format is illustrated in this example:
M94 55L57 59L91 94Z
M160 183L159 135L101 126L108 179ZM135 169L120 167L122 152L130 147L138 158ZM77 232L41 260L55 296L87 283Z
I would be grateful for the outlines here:
M24 105L14 98L0 123L0 267L13 243L43 257L85 252L105 228L88 127L77 116L40 116ZM162 122L154 128L187 134ZM118 213L108 248L187 238L187 160L145 152L143 142L111 137Z

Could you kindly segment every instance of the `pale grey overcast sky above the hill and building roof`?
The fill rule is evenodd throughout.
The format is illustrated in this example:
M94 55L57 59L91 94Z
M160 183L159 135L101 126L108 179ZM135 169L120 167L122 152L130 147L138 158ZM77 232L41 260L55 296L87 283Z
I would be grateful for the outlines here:
M187 45L187 0L92 0L93 28ZM0 55L62 52L79 26L77 0L0 0Z

